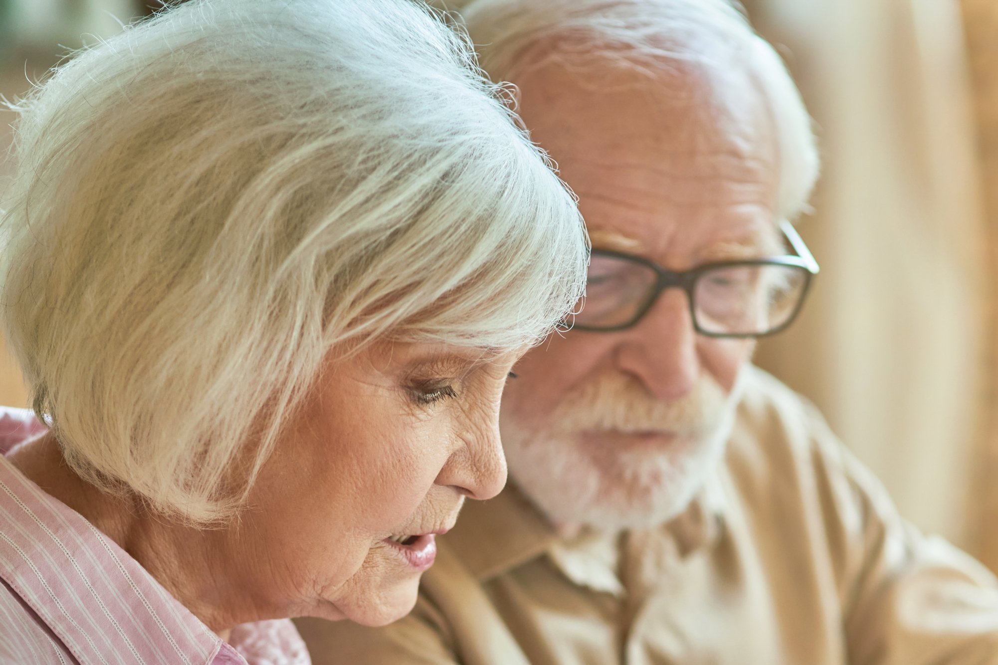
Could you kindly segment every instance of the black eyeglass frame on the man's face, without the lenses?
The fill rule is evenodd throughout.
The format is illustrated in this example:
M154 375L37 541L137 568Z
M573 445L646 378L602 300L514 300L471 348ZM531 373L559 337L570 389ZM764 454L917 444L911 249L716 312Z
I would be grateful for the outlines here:
M696 268L685 270L683 272L667 270L655 261L651 261L642 256L635 256L634 254L613 251L610 249L593 249L593 256L621 258L645 265L655 271L656 275L658 275L658 279L645 303L639 307L635 315L625 323L606 327L587 326L581 323L574 323L572 325L572 330L583 330L586 332L618 332L620 330L633 328L645 317L646 314L648 314L649 310L652 309L655 303L658 302L659 297L667 289L679 287L682 288L687 294L687 302L690 303L690 318L693 321L694 330L696 330L700 335L716 338L748 339L768 337L769 335L775 335L776 333L782 332L791 323L793 323L793 320L797 318L797 314L800 313L800 309L803 307L804 300L807 297L807 291L810 289L811 280L814 275L819 272L820 268L818 267L817 261L814 260L814 256L807 248L807 245L804 244L804 241L800 238L800 235L797 233L796 229L793 228L793 224L785 219L782 219L779 222L779 229L782 231L783 237L786 238L786 241L789 243L790 248L796 252L796 255L769 256L766 258L739 259L736 261L714 261L698 265ZM708 272L714 268L732 268L752 265L785 265L804 270L804 285L800 291L800 296L797 299L797 304L793 308L793 312L790 314L789 318L787 318L786 321L779 326L761 333L718 333L701 328L700 323L697 320L697 308L694 304L694 288L697 285L697 280L700 279L705 272ZM583 304L583 307L585 307L585 304Z

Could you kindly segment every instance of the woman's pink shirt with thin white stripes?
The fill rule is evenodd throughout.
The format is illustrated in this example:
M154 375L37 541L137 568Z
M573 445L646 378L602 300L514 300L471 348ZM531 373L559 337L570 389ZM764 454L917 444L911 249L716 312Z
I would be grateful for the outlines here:
M5 458L45 431L0 407L0 663L307 665L290 621L222 640L111 538Z

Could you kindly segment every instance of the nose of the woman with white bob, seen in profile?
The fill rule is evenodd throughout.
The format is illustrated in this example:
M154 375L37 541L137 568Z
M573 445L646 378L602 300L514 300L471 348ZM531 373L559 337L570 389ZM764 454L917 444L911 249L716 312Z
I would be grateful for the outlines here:
M506 486L506 457L499 423L485 432L461 437L463 446L447 460L436 484L452 487L469 499L492 499Z

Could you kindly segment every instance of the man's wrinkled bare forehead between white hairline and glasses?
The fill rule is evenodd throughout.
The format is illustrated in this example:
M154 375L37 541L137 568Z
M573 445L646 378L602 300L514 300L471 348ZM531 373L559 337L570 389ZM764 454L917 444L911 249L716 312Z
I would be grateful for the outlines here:
M776 135L748 77L555 62L515 83L523 120L579 195L594 246L676 269L780 252Z

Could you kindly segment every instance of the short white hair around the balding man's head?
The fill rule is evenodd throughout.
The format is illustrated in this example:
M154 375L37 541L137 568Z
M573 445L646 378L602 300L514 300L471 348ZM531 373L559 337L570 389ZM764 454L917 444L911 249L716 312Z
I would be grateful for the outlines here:
M728 0L433 0L432 4L455 10L476 44L482 68L494 81L515 83L551 59L580 68L615 61L637 66L653 77L684 62L704 65L723 76L749 76L772 116L779 144L777 214L792 220L807 208L818 174L810 117L779 56ZM527 54L542 61L530 61Z

